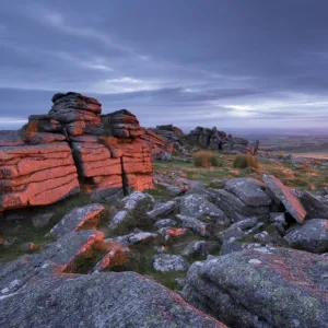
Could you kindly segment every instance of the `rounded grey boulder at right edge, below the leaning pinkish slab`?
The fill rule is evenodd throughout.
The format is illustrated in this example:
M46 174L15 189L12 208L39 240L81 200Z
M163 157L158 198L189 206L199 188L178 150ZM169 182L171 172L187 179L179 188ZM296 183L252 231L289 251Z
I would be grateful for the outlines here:
M328 220L313 219L291 227L284 238L291 247L312 253L328 251Z

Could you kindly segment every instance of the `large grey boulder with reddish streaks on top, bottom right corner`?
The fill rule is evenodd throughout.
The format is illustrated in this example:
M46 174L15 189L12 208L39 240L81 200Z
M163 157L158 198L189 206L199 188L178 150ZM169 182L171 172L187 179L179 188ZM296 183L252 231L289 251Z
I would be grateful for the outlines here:
M195 262L183 295L230 327L327 327L327 259L270 249Z

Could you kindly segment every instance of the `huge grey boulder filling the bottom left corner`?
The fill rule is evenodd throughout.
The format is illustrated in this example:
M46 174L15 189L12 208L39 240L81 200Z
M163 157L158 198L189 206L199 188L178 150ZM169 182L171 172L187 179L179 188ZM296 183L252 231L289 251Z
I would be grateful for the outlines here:
M58 276L0 300L0 326L225 327L134 272Z

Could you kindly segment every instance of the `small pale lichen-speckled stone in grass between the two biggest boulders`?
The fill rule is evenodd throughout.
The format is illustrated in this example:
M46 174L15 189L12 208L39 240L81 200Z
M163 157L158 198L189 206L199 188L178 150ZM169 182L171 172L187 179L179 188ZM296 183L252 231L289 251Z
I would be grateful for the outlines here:
M189 269L188 261L179 255L159 254L153 258L153 267L155 271L186 271Z

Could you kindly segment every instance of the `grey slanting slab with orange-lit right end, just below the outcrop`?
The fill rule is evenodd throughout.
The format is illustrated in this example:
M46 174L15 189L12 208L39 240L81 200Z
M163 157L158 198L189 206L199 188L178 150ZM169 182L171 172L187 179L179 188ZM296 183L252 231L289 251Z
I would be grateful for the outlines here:
M104 210L105 208L99 203L75 208L67 213L59 223L50 230L46 237L60 237L70 232L78 231L86 221L94 219Z

